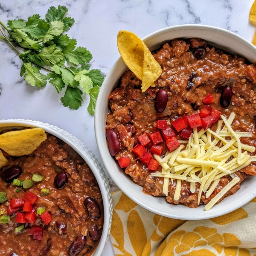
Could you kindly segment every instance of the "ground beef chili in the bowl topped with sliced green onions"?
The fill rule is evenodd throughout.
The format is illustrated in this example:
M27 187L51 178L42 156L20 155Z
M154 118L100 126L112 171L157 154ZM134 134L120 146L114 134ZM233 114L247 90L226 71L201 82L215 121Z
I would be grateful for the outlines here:
M7 195L7 201L0 204L0 211L7 215L12 199L24 198L31 192L36 200L32 211L36 207L45 207L46 215L50 216L46 223L50 222L45 224L45 218L40 217L44 213L38 215L35 210L35 223L26 223L23 230L15 233L15 228L22 224L16 222L17 214L24 208L10 215L9 223L0 224L0 255L92 255L102 233L103 203L99 186L87 163L73 148L51 134L47 134L47 139L30 155L11 157L6 152L3 154L8 165L0 170L0 174L12 166L19 166L22 172L17 179L31 180L36 173L42 175L43 180L34 181L29 189L24 189L0 179L0 192ZM56 175L67 176L67 183L58 183ZM49 189L49 195L41 195L41 189ZM43 229L41 240L30 234L35 227Z

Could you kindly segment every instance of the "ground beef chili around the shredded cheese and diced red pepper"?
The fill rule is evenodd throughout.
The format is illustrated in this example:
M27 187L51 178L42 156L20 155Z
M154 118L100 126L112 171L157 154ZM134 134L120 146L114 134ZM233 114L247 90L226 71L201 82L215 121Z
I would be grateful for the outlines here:
M199 38L175 39L152 53L163 70L155 81L155 87L150 87L142 93L141 81L131 71L125 72L116 89L108 97L110 110L106 119L106 130L112 129L119 136L121 148L115 154L116 160L120 157L130 159L130 162L122 163L126 167L125 173L135 183L143 186L143 192L146 194L165 196L163 177L151 177L150 173L155 171L149 170L148 165L143 164L132 152L137 143L140 143L137 138L142 134L149 135L157 131L157 120L166 120L169 127L178 117L199 113L205 106L202 99L211 93L215 98L215 103L211 104L214 109L221 111L226 118L231 112L236 114L232 125L234 131L253 133L252 138L243 138L242 143L256 146L256 67L249 64L245 58L215 49ZM220 104L221 94L227 87L232 88L232 98L227 97L226 102L222 101ZM165 90L168 94L167 106L162 113L157 113L155 108L155 98L159 90ZM224 93L230 94L230 89L226 90ZM225 107L227 105L228 107ZM216 124L211 129L215 131ZM176 138L184 140L177 131ZM152 145L151 141L145 145L147 151ZM163 157L167 151L166 143L157 145L163 146ZM157 172L160 172L161 168L158 166ZM225 196L235 193L248 175L256 175L256 166L252 163L236 174L240 182ZM206 198L203 192L200 204L207 204L231 179L229 175L222 177L209 198ZM189 182L182 181L180 198L175 201L176 180L173 184L170 181L166 200L171 204L198 207L199 186L200 184L196 183L196 191L191 193Z

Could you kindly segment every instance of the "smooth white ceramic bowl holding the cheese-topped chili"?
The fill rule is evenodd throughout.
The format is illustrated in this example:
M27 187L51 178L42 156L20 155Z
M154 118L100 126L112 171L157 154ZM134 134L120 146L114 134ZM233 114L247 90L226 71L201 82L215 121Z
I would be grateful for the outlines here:
M157 49L161 44L174 38L198 37L207 40L213 46L225 49L241 56L249 61L256 61L256 47L241 38L239 35L225 29L204 25L180 25L158 30L145 38L143 41L150 50ZM116 45L113 45L116 47ZM167 203L164 197L154 197L143 193L142 187L135 184L128 175L119 167L118 163L111 157L105 137L106 116L108 113L108 95L116 87L122 74L127 70L122 58L119 58L105 78L99 92L95 111L95 134L97 145L105 164L105 167L117 186L133 201L151 212L177 219L199 220L213 218L232 212L256 197L256 177L248 177L239 191L216 204L208 212L204 206L195 209L183 205L172 205Z

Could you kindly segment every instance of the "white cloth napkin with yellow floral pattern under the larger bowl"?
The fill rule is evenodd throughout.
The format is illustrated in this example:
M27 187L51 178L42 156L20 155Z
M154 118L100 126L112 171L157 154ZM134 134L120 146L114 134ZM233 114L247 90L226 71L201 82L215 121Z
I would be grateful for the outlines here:
M111 240L116 256L256 256L256 198L221 217L166 218L112 194Z

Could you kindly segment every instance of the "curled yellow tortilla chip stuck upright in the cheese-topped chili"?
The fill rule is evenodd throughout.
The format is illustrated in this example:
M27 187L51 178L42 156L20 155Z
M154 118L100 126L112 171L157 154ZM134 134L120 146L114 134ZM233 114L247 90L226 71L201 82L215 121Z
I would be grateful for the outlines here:
M144 42L134 33L120 30L117 47L127 67L142 80L142 92L150 86L154 87L154 81L161 75L162 68Z

